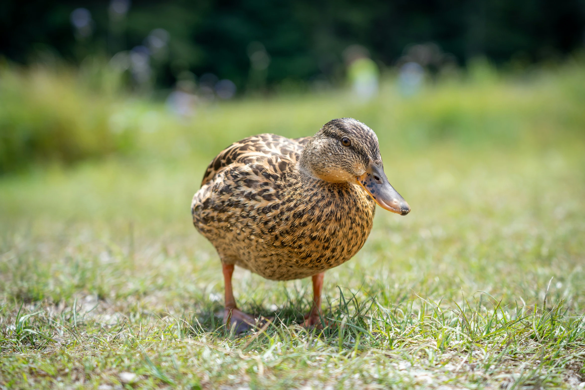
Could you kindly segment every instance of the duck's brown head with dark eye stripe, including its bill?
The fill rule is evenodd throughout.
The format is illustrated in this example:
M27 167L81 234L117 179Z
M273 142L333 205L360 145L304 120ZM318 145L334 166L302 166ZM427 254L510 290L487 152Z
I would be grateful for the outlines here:
M305 145L299 165L314 178L359 184L383 209L400 215L410 211L384 173L376 133L355 119L325 123Z

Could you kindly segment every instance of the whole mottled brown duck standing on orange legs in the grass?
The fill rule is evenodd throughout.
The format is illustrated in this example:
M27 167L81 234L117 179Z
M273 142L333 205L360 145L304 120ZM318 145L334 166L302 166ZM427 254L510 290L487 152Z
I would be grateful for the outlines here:
M223 322L236 323L238 332L254 323L233 298L239 265L273 280L312 276L305 326L321 324L325 271L362 248L376 203L401 215L410 211L384 174L376 133L355 119L331 120L314 137L260 134L219 153L191 212L222 261Z

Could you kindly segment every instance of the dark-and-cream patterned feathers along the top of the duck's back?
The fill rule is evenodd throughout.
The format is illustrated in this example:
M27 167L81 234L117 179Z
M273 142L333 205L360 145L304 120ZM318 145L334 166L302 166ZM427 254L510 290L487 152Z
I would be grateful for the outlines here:
M209 163L201 185L207 184L218 172L233 164L253 164L260 160L266 161L267 157L272 156L279 156L297 163L302 150L311 138L290 139L276 134L259 134L235 142L222 150Z

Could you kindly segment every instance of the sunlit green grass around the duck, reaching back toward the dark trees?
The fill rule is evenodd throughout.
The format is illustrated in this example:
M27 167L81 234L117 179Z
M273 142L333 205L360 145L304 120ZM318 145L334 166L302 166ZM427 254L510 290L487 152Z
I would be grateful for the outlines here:
M583 74L445 82L408 99L389 85L368 105L243 100L188 121L112 105L135 129L132 153L0 180L0 386L579 388ZM237 336L215 315L219 259L190 221L204 167L248 134L304 136L339 116L376 130L412 212L378 209L364 248L327 272L322 332L297 325L308 279L236 271L240 307L273 318Z

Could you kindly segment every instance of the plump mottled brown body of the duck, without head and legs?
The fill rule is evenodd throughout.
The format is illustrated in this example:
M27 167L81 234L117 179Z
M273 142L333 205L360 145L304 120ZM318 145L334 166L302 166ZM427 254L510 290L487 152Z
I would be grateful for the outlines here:
M375 205L357 185L301 178L310 139L260 134L209 164L191 211L224 263L286 280L342 264L363 246Z

